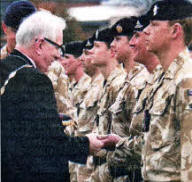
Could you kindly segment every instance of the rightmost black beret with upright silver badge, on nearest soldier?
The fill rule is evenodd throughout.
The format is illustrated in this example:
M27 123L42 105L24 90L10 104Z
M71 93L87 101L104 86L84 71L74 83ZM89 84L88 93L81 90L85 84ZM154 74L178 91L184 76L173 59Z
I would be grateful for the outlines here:
M164 0L154 3L147 13L150 20L179 20L192 16L188 0Z

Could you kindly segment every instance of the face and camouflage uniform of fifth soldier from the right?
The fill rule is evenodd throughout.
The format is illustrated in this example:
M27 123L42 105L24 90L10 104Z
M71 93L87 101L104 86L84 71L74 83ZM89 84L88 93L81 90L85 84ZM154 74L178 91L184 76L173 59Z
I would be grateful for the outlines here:
M78 108L79 114L78 125L76 130L77 136L84 136L92 132L95 117L98 110L98 102L100 101L102 96L104 82L104 77L100 73L100 70L91 62L91 55L87 47L85 47L83 51L81 60L83 63L84 71L91 77L91 86L87 94L85 95L83 102ZM85 182L93 173L93 171L93 156L89 156L86 165L78 165L77 181Z

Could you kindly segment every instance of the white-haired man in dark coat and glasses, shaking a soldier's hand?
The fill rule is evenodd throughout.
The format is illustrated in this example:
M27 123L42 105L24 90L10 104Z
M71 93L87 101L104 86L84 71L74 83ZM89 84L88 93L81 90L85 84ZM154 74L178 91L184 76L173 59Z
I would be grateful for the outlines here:
M68 160L86 162L103 147L93 134L63 133L51 81L42 73L60 57L65 27L49 12L34 13L20 25L15 50L0 63L2 181L67 181Z

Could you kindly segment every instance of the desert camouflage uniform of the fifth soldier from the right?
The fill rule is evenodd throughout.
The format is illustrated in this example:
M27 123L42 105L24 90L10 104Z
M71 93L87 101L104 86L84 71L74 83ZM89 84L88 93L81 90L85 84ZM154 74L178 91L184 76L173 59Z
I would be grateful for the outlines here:
M77 136L84 136L93 130L94 120L97 114L98 105L103 90L104 77L99 74L91 83L83 102L79 107L78 126L76 130ZM77 181L85 182L93 173L93 156L89 156L86 165L78 165Z

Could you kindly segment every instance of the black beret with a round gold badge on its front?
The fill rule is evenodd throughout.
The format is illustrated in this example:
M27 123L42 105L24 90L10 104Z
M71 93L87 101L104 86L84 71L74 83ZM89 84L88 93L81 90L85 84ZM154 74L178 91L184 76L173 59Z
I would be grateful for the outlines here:
M113 35L114 36L118 36L118 35L132 36L134 33L134 28L136 26L137 20L138 19L136 17L120 19L111 27L111 31L113 32Z

